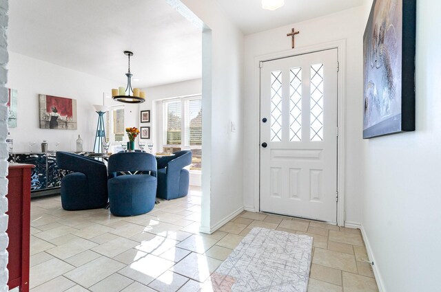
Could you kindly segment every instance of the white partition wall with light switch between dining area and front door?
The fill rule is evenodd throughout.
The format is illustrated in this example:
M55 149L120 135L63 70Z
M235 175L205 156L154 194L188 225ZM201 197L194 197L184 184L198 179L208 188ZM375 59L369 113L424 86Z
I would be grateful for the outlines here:
M203 33L203 232L243 210L243 34L214 0L182 0ZM230 131L230 124L237 131ZM209 215L208 215L209 214Z

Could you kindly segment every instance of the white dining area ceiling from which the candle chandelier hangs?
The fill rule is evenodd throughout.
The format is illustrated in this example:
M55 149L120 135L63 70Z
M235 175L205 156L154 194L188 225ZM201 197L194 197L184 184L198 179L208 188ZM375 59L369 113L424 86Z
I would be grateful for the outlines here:
M201 78L201 30L164 0L9 1L8 49L121 84L130 50L134 87Z

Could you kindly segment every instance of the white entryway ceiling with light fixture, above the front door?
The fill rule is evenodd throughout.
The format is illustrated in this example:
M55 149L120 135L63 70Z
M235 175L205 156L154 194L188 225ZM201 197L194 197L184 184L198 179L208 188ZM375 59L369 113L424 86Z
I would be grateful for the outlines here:
M291 23L362 5L365 0L285 0L278 10L263 10L260 0L216 0L229 18L246 34L271 30Z

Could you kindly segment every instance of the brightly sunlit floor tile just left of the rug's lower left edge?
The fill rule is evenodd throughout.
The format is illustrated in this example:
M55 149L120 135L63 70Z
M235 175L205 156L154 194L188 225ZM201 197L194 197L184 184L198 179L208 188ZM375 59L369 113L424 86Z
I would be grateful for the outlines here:
M192 253L174 265L170 271L174 271L175 273L198 282L204 282L221 263L222 261L216 260L215 258Z

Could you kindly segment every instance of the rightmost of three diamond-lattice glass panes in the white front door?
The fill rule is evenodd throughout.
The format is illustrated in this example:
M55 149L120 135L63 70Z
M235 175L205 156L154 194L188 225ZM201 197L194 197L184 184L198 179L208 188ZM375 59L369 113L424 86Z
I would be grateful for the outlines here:
M311 141L323 141L323 64L311 65Z

